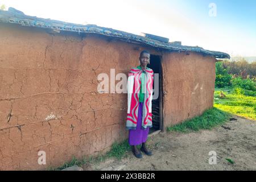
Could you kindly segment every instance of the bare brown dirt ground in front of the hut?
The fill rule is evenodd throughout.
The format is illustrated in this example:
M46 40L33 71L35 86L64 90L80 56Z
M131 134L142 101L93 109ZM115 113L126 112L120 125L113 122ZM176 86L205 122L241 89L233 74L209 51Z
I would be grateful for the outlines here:
M256 170L256 121L234 117L212 130L196 133L159 133L148 140L154 155L137 159L128 152L121 160L92 164L92 170ZM216 151L217 164L209 164ZM232 159L234 164L226 158ZM89 169L84 166L84 170Z

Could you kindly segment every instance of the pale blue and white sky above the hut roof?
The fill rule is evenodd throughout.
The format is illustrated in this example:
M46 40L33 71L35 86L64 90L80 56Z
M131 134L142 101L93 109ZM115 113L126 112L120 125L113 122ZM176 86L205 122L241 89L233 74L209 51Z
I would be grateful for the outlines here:
M255 0L0 0L26 15L97 24L231 56L256 56Z

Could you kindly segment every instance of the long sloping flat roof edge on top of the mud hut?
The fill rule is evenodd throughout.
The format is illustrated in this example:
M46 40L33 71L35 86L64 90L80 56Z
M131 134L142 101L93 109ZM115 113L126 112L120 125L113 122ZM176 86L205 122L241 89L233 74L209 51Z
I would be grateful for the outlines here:
M22 13L21 11L9 8L9 11L0 10L0 22L3 23L15 23L22 26L29 27L40 27L40 28L49 28L55 31L73 31L79 33L90 33L90 34L100 34L105 36L112 36L125 40L126 42L137 42L142 44L147 44L156 48L169 49L172 51L191 51L199 52L204 55L214 56L216 58L228 58L230 56L228 53L209 51L198 46L182 46L180 42L166 42L166 38L159 36L154 36L150 34L135 35L128 32L114 30L113 28L99 27L95 24L75 24L61 22L59 20L44 19L38 18L36 16L28 16ZM150 36L148 36L150 35ZM161 39L154 39L161 38Z

